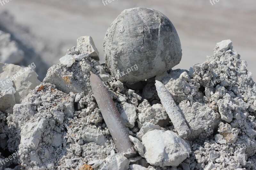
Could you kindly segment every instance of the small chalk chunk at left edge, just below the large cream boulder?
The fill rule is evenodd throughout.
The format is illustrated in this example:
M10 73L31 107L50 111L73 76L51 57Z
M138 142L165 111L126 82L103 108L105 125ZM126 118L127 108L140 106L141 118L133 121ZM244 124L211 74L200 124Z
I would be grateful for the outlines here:
M10 108L13 111L13 106L15 105L14 92L12 88L3 90L0 93L0 111L5 112L6 109Z

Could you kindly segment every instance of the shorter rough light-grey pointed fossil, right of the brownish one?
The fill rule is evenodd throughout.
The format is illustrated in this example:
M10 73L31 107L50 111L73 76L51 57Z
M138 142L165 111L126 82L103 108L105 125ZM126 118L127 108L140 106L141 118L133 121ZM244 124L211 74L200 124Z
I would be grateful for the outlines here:
M188 128L186 120L181 115L179 107L172 99L170 92L168 92L166 87L160 81L156 80L155 85L161 103L164 106L169 118L171 119L175 130L178 132L180 137L187 137L190 133L190 129Z

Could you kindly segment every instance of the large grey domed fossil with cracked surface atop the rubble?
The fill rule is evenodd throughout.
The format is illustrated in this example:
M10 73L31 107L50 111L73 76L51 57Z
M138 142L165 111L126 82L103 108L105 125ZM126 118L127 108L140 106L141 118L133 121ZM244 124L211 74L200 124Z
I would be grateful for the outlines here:
M103 47L109 71L127 84L170 70L182 56L172 22L148 8L124 10L109 26Z

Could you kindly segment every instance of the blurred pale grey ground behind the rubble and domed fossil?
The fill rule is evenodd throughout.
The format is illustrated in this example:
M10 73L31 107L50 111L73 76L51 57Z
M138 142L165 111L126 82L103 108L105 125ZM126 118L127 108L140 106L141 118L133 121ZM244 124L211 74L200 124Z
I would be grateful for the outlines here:
M24 51L18 64L35 62L42 80L80 36L91 35L103 58L108 26L124 10L147 7L164 13L176 27L183 50L175 69L189 69L213 54L217 42L230 39L256 78L256 1L220 0L12 0L0 4L0 30Z

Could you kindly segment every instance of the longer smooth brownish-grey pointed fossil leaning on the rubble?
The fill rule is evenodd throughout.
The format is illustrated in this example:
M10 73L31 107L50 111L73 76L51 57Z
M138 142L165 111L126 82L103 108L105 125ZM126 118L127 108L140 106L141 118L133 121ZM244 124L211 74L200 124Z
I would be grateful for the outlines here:
M116 108L108 89L103 85L100 78L91 72L90 82L92 92L100 108L102 117L109 129L111 136L119 152L128 153L127 157L136 154L134 146L130 141L124 122Z

